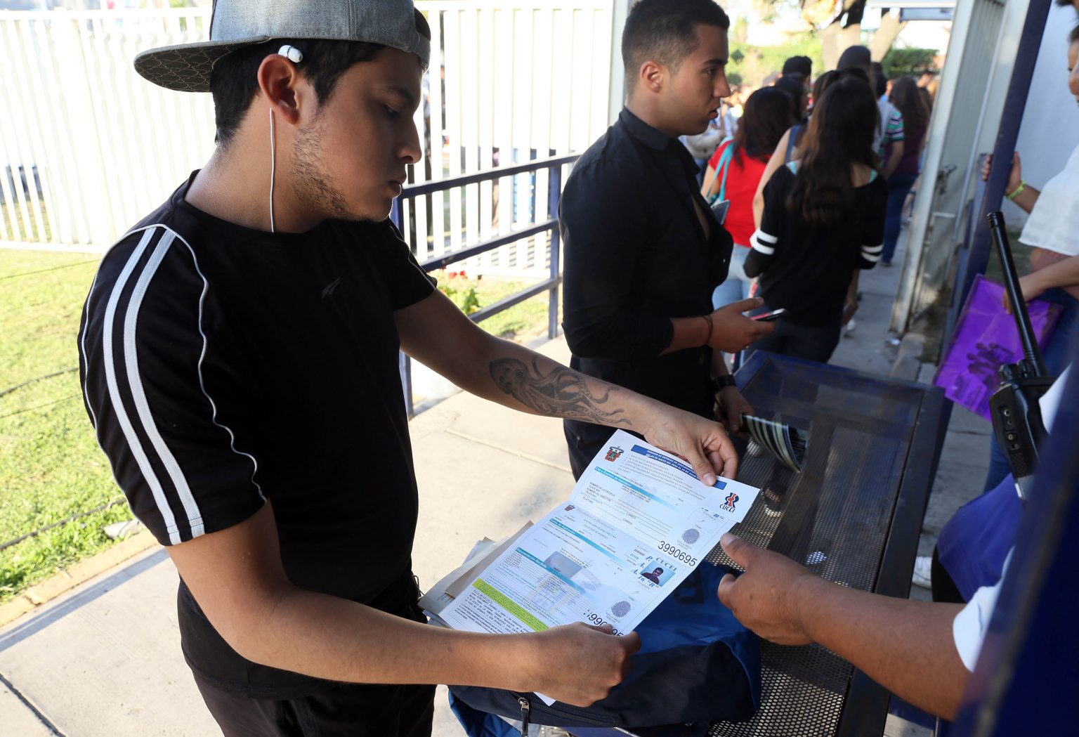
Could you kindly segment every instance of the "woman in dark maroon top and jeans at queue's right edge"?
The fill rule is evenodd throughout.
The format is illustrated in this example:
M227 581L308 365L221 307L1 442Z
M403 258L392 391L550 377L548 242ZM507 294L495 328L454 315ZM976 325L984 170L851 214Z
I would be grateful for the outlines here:
M884 254L880 265L890 267L899 241L899 229L903 213L903 202L914 181L918 178L918 163L929 129L929 108L913 77L892 80L888 100L903 115L903 152L896 170L888 177L888 214L884 221ZM891 151L885 151L885 161Z

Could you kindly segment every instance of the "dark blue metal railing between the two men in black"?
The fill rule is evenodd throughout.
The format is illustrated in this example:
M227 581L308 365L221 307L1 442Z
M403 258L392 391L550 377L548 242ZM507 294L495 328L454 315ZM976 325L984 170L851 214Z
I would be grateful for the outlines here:
M410 185L404 189L399 197L394 200L390 218L397 226L397 229L404 233L405 223L401 202L405 200L414 200L415 197L424 194L433 194L435 192L442 192L457 187L465 187L467 185L477 185L482 181L502 179L503 177L509 177L516 174L533 174L542 169L547 169L549 172L549 177L547 180L546 220L543 222L532 223L520 230L516 230L488 241L467 245L451 253L442 254L441 256L421 262L420 267L426 272L435 271L436 269L445 269L449 264L456 261L463 261L464 259L478 256L482 253L493 250L494 248L500 248L501 246L506 246L523 238L533 237L541 233L550 232L550 271L547 278L538 284L521 289L509 297L501 299L494 304L477 310L468 315L468 317L474 323L479 323L480 320L487 319L491 315L496 315L503 310L508 310L515 304L523 302L531 297L535 297L543 291L547 291L549 294L547 305L547 337L555 338L555 336L558 335L558 288L562 283L558 233L558 200L562 193L562 167L575 162L579 155L581 154L574 153L564 156L537 159L524 164L501 166L498 168L479 172L477 174L465 174L450 179L439 179L437 181L428 181L422 185ZM538 218L538 213L536 214L536 217ZM408 410L408 415L411 418L415 415L415 404L412 400L412 361L404 353L400 355L400 372L401 386L405 390L405 407Z

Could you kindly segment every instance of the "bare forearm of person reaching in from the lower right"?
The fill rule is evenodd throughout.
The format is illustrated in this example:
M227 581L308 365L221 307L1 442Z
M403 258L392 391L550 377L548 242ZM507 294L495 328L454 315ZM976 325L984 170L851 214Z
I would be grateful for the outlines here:
M795 606L814 641L911 704L955 715L970 675L952 634L962 606L866 593L817 577L804 584Z

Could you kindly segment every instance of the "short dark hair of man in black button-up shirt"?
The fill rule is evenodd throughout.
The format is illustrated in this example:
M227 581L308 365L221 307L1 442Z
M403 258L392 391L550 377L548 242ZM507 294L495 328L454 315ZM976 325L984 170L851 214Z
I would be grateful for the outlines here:
M630 10L622 32L622 62L627 86L637 83L637 70L647 59L677 70L697 49L697 26L726 30L730 18L713 0L640 0Z

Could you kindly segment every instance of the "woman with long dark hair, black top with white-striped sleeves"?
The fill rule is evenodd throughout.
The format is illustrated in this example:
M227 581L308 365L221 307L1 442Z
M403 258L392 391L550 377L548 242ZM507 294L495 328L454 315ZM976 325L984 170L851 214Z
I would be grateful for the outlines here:
M746 274L760 276L767 308L786 314L752 350L827 361L838 344L851 276L876 265L883 248L888 188L875 168L877 114L864 81L836 81L814 107L801 158L765 185Z

